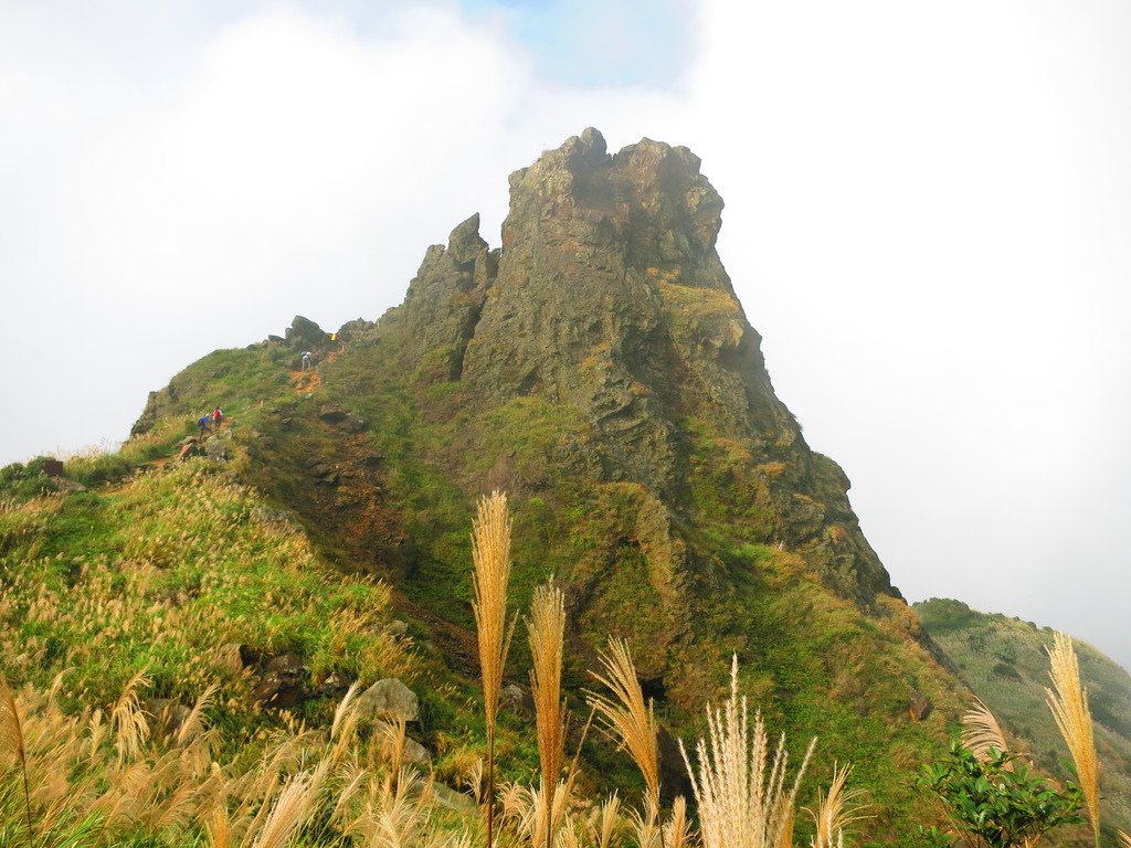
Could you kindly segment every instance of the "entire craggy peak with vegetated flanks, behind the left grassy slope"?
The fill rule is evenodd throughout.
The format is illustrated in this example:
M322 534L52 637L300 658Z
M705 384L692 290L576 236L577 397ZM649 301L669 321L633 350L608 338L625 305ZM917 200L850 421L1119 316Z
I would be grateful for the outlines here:
M331 339L296 319L205 357L135 432L224 406L241 477L344 569L386 578L466 673L469 516L503 488L516 605L550 574L567 587L571 685L627 637L679 732L737 652L774 719L829 739L822 767L853 759L879 803L912 810L903 778L964 689L862 535L845 474L774 393L699 158L648 139L610 154L589 129L510 193L501 246L472 216L380 320Z

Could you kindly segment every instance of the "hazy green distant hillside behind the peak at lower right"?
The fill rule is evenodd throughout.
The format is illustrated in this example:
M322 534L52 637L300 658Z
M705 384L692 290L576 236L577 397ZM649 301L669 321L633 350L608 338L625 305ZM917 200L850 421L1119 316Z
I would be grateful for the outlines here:
M1069 759L1045 706L1052 630L943 598L915 604L915 612L966 684L1039 765L1052 770ZM1077 641L1076 650L1096 724L1105 828L1131 831L1131 675L1086 642Z

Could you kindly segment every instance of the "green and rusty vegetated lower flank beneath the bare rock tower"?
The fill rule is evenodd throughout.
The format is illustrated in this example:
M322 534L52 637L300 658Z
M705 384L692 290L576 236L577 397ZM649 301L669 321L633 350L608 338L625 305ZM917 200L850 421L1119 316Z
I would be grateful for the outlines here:
M435 379L428 361L396 366L388 353L396 331L382 322L356 335L312 374L291 372L293 351L282 345L218 352L174 379L175 398L161 399L154 421L175 429L198 407L223 406L230 470L291 510L328 562L383 579L398 614L428 631L461 680L475 673L474 501L492 487L508 491L513 604L525 608L551 574L566 585L575 703L592 685L588 669L607 635L625 637L665 727L690 737L702 730L706 700L724 695L737 652L744 691L771 726L798 747L820 737L812 787L834 761L856 764L855 779L882 811L872 838L907 837L936 815L912 777L944 746L965 701L961 686L921 644L901 602L883 596L864 614L801 556L767 544L759 493L776 468L758 467L710 422L689 419L690 507L673 527L644 486L594 482L571 465L587 425L569 407L537 397L476 403L459 381ZM217 373L256 386L230 388ZM328 406L364 429L328 423ZM524 684L521 629L511 656L508 680ZM909 715L915 693L932 704L922 720ZM605 787L636 787L623 758L602 741L587 756ZM504 762L504 771L513 764ZM671 767L675 788L682 776Z

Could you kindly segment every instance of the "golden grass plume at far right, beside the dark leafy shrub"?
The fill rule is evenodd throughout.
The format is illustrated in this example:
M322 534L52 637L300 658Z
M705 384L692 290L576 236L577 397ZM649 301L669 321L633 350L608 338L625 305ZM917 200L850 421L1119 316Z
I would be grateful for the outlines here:
M1080 683L1080 664L1072 648L1072 638L1065 633L1053 634L1048 651L1048 676L1053 689L1045 689L1048 709L1052 710L1061 736L1068 744L1076 763L1076 776L1087 799L1088 817L1099 848L1099 760L1091 735L1091 712L1088 710L1088 691Z

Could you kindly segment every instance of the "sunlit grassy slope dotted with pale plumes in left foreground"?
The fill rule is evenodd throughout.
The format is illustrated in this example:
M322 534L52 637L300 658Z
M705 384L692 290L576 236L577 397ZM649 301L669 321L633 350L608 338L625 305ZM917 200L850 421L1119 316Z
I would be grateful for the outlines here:
M69 468L121 470L138 456ZM20 693L28 750L38 752L29 770L42 845L195 845L221 776L231 791L250 793L232 801L234 813L247 801L266 814L284 779L326 759L304 727L329 727L352 682L405 682L420 698L409 736L432 753L431 773L467 779L483 736L472 683L392 622L386 583L334 568L293 513L242 485L230 465L158 462L95 490L32 497L11 497L12 488L0 501L0 672ZM293 702L283 709L279 698ZM180 744L190 718L202 724ZM143 738L129 742L139 720ZM528 777L535 754L524 736L511 717L503 750L511 772ZM366 730L349 750L379 763L371 749ZM201 756L202 771L169 771ZM16 765L0 751L0 843L14 846L26 838L16 836ZM437 811L449 830L465 827ZM323 825L302 843L331 843L337 831Z

